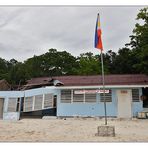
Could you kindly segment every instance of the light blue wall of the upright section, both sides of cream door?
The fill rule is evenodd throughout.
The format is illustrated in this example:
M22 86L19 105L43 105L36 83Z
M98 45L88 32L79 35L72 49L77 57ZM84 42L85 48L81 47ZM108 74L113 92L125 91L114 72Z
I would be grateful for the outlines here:
M125 88L124 88L125 89ZM127 88L128 89L128 88ZM130 88L131 89L131 88ZM107 116L118 116L118 97L117 90L112 90L112 102L106 102ZM59 90L61 96L61 91ZM139 96L142 94L142 89L139 88ZM119 98L120 99L120 98ZM100 102L100 95L97 95L96 103L61 103L61 98L58 98L57 116L104 116L104 103ZM132 116L137 116L137 113L143 110L142 101L133 102L131 98ZM125 108L126 109L126 108Z

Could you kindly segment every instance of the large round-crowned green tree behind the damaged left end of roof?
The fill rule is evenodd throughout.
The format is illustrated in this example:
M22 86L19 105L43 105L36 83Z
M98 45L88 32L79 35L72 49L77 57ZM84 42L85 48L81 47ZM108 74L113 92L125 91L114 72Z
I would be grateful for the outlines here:
M49 49L42 55L42 68L46 76L75 74L77 65L76 58L66 51Z

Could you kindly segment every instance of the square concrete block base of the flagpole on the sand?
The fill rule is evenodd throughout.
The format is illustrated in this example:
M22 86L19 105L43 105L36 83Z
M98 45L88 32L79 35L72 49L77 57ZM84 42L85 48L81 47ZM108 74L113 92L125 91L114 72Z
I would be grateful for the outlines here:
M101 125L97 128L97 133L95 136L100 137L115 137L115 127L108 125Z

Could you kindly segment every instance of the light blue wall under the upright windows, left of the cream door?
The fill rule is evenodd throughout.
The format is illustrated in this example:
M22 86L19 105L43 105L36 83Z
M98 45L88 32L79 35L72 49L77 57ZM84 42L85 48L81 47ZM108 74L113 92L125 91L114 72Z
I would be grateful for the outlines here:
M115 89L112 89L112 102L106 102L106 108L107 116L117 116ZM60 103L59 98L57 116L104 116L104 103L100 102L99 95L96 103Z

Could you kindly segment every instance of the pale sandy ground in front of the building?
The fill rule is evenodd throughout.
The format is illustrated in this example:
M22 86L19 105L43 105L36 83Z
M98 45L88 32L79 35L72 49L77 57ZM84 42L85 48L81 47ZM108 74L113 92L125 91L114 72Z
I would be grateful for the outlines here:
M148 119L108 119L115 137L98 137L104 119L21 119L0 120L0 142L148 142Z

